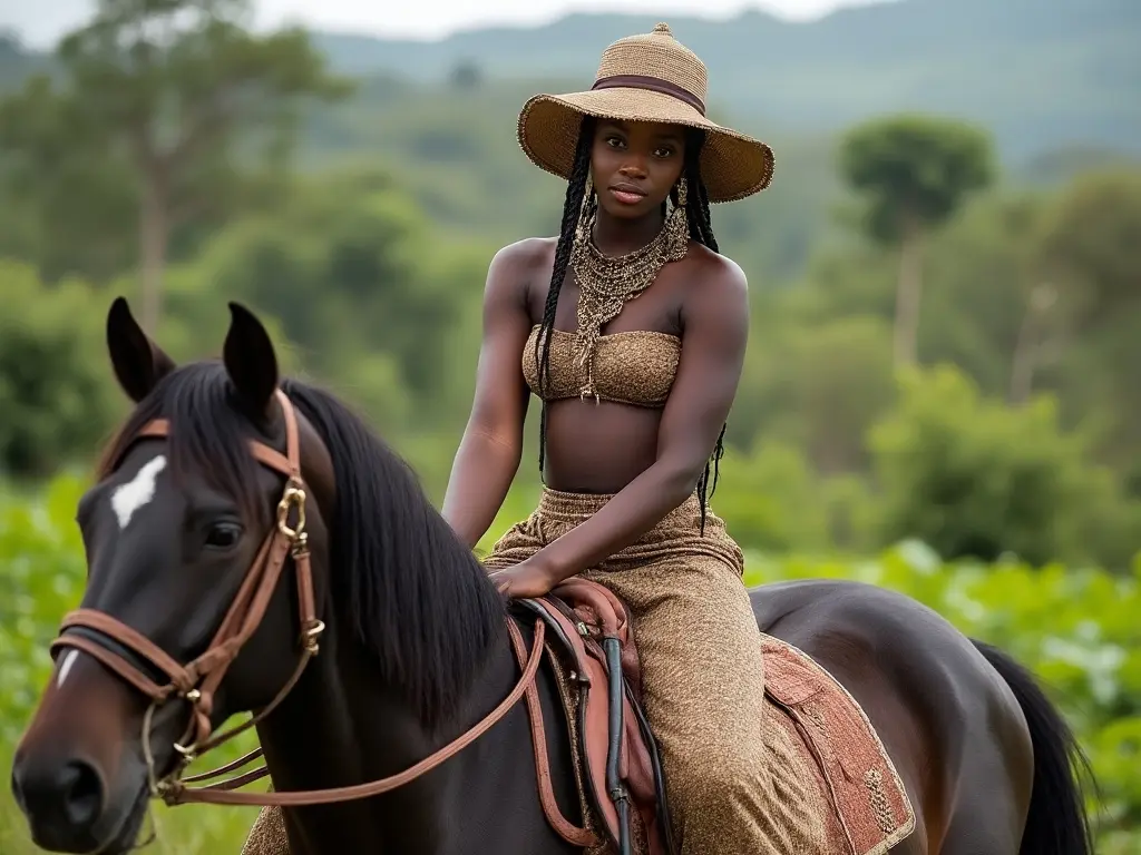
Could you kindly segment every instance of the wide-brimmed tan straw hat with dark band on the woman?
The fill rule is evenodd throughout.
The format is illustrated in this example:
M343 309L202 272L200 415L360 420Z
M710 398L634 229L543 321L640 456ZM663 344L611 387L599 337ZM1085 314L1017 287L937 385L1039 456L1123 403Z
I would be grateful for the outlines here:
M519 113L519 145L540 169L568 178L584 115L701 128L702 179L710 202L734 202L772 180L772 149L705 117L705 64L667 24L610 44L590 91L536 95Z

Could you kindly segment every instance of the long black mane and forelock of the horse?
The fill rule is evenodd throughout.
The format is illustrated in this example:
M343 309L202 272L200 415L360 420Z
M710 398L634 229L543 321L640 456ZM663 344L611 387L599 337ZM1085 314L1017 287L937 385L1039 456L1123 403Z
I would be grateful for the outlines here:
M503 600L412 469L359 416L299 380L282 389L333 461L337 507L326 522L334 608L349 618L380 678L435 727L458 711L502 637ZM100 474L157 417L170 420L173 478L205 477L268 523L270 508L253 490L258 464L245 445L256 429L221 364L196 363L164 377L111 442Z

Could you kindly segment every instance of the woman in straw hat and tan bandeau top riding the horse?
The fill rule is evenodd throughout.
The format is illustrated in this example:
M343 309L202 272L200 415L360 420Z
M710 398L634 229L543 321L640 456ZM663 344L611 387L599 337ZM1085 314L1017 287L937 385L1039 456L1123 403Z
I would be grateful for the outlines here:
M824 855L811 773L766 727L743 554L709 507L748 335L710 203L764 189L772 154L705 97L704 64L659 24L607 48L589 91L524 106L524 152L567 180L563 225L489 266L444 515L484 536L536 396L544 487L485 559L493 579L535 597L581 575L629 603L685 855Z

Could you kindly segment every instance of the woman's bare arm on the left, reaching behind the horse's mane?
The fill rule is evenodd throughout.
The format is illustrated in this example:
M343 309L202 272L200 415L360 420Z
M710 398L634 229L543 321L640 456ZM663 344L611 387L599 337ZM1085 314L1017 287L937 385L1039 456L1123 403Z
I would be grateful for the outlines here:
M519 469L528 389L520 359L531 334L526 284L540 249L524 241L500 250L484 287L476 391L444 496L444 519L475 547L499 513Z

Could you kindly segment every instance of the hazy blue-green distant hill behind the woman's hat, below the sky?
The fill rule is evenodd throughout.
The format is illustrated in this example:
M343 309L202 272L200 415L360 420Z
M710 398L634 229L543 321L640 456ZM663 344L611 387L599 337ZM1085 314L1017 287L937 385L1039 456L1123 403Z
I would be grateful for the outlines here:
M570 15L437 41L317 34L335 67L445 80L588 83L614 39L661 16ZM1094 146L1141 150L1141 3L1135 0L900 0L790 23L669 16L706 62L714 109L746 128L831 132L877 113L922 109L985 123L1006 156Z

